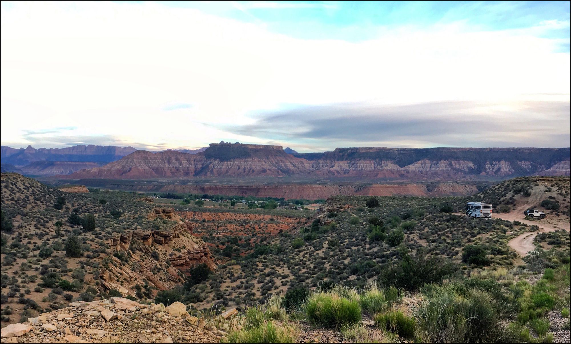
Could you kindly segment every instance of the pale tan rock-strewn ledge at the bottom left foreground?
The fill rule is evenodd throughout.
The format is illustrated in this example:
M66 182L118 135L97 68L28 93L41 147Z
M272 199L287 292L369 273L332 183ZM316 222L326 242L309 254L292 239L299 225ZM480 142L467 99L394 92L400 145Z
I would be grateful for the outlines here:
M126 298L70 303L0 330L2 343L219 343L239 327L238 311L215 318L188 314L183 303L144 305Z

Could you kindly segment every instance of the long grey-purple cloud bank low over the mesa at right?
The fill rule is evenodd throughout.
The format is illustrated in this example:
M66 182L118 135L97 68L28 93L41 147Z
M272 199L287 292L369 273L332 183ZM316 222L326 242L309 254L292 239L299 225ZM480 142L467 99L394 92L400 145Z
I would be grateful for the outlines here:
M255 115L236 133L359 146L569 146L569 102L341 103ZM549 120L544 119L546 116ZM228 128L229 129L229 128Z

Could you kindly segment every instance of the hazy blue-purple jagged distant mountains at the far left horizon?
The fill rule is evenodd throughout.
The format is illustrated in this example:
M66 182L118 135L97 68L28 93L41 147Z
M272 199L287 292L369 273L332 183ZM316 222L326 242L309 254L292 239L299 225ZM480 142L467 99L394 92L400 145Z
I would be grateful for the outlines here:
M136 151L133 147L78 145L65 148L39 148L27 146L15 149L2 146L0 158L3 163L15 166L26 166L35 161L81 161L102 162L116 161ZM86 168L86 167L83 167Z

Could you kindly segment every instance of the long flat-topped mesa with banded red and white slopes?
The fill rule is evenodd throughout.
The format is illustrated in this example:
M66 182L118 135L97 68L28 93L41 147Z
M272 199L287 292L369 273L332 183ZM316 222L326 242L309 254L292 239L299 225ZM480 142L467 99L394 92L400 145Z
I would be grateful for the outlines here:
M315 177L383 181L569 175L569 148L347 148L287 154L281 146L212 143L197 154L136 151L65 178Z

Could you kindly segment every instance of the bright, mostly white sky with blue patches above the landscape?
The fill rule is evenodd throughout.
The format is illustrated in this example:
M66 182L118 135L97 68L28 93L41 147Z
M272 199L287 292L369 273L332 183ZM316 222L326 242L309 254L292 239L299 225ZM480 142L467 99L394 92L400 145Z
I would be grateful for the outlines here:
M568 1L0 6L2 145L570 145Z

